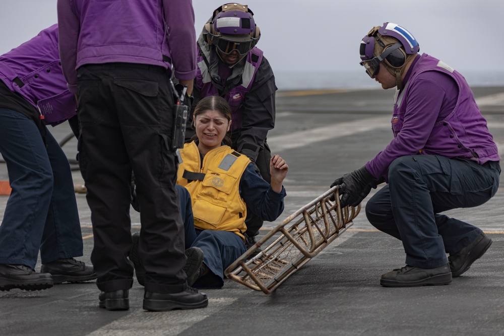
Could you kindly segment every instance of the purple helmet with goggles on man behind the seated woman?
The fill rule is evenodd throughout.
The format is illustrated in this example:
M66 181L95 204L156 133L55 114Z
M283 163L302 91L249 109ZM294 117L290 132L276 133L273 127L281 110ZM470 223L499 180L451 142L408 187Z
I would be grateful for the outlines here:
M254 13L247 5L226 4L219 7L205 29L208 32L208 44L215 45L225 54L236 50L240 55L245 55L261 37Z

